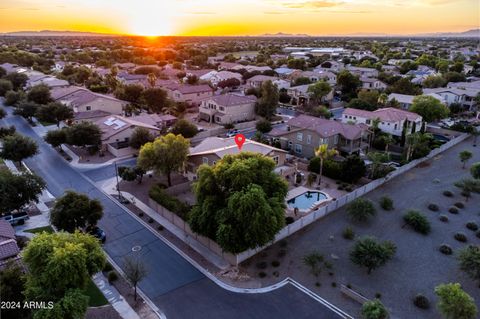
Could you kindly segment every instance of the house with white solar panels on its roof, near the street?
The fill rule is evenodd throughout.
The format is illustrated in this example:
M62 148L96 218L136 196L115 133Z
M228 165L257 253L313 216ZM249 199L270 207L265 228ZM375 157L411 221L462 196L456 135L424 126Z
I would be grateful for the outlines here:
M144 127L155 137L160 134L158 127L120 115L108 115L97 119L94 123L102 131L101 149L117 157L131 155L135 152L129 146L130 137L135 128Z

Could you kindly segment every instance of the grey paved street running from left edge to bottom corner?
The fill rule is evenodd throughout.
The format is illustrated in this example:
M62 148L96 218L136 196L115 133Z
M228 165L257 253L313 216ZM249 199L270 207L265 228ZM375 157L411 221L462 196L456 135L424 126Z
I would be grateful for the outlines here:
M25 162L47 182L54 196L74 189L102 202L104 217L99 225L107 233L104 249L121 267L124 256L138 254L143 259L149 273L140 288L168 318L339 318L291 285L264 294L232 293L217 286L82 173L70 167L23 118L12 116L11 109L9 113L0 124L15 125L19 133L38 142L40 154ZM96 173L103 180L114 172L105 167L87 174L92 178ZM141 250L132 252L134 246L140 246Z

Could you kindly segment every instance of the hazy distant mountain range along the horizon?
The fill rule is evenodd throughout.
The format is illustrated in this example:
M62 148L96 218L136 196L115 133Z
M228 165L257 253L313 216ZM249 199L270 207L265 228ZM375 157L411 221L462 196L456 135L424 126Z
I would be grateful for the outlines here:
M42 31L16 31L16 32L5 32L0 33L0 36L22 36L22 37L32 37L32 36L44 36L44 37L111 37L111 36L121 36L120 34L108 34L108 33L97 33L97 32L79 32L79 31L51 31L51 30L42 30ZM269 38L307 38L315 37L315 35L309 34L292 34L292 33L265 33L257 35L259 37L269 37ZM329 36L334 37L435 37L435 38L480 38L480 29L472 29L464 32L435 32L435 33L417 33L417 34L405 34L405 35L391 35L387 33L365 33L357 32L351 34L332 34Z

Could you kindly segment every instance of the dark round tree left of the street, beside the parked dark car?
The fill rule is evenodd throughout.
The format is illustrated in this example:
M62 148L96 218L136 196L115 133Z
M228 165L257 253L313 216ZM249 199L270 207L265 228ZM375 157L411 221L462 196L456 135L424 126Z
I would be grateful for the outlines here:
M73 233L95 226L103 216L103 207L97 199L85 194L66 191L58 198L50 212L50 222L59 230Z

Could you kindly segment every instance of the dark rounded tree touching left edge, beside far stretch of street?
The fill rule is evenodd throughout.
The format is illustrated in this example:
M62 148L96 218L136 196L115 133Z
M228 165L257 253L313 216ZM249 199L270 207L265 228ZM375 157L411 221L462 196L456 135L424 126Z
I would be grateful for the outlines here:
M20 163L22 160L38 154L38 145L30 137L15 133L2 139L3 148L0 157Z

